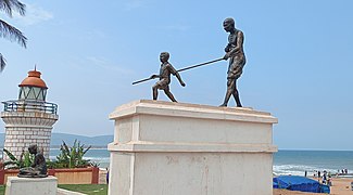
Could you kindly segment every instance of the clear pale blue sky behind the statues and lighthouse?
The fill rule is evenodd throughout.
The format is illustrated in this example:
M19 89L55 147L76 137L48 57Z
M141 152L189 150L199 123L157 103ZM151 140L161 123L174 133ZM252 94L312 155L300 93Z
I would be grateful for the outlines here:
M28 38L27 49L0 39L8 66L0 100L37 64L59 104L53 132L113 134L108 115L121 104L151 99L159 54L178 69L224 55L226 17L244 32L247 65L238 81L243 106L278 117L279 148L353 150L353 1L341 0L26 0L25 17L0 17ZM219 105L227 62L173 78L179 102ZM160 100L168 99L160 93ZM230 100L230 106L234 106ZM3 122L0 129L3 132Z

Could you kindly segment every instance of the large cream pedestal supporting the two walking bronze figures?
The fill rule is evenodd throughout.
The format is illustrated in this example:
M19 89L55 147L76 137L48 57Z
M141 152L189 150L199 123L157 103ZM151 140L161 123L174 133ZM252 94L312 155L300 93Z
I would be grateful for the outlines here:
M268 113L136 101L110 118L111 195L273 194Z

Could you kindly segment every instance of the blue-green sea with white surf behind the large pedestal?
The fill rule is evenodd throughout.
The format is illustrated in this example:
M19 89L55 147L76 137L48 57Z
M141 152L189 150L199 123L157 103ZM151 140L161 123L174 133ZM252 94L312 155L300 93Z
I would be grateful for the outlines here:
M50 150L50 159L55 159L59 148ZM85 154L85 159L99 165L100 168L109 168L110 153L106 148L90 148ZM279 150L274 155L273 172L275 176L313 176L315 171L331 172L342 169L353 172L353 151L286 151Z

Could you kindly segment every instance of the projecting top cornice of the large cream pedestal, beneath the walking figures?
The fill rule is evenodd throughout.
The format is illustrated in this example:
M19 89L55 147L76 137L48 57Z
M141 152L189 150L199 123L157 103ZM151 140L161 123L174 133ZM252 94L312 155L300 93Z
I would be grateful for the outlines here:
M163 101L139 100L118 106L110 119L131 115L160 115L202 119L223 119L250 122L277 123L278 119L269 113L254 110L251 107L216 107L200 104L174 103Z

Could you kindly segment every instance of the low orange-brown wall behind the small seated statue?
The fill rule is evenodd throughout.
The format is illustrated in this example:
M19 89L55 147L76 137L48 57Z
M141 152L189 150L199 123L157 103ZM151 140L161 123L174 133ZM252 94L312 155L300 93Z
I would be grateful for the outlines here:
M18 169L0 169L0 184L8 182L8 177L18 174ZM98 184L99 168L48 169L49 176L58 178L58 184Z

